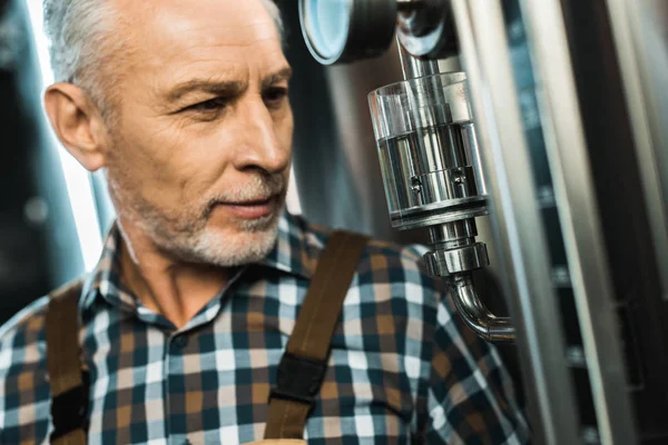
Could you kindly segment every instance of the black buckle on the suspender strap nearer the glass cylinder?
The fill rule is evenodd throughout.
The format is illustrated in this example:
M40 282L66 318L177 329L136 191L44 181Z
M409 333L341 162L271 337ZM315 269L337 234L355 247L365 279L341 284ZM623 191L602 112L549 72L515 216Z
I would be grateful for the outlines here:
M285 353L278 364L278 378L269 393L269 402L272 398L294 400L313 409L326 372L326 362Z

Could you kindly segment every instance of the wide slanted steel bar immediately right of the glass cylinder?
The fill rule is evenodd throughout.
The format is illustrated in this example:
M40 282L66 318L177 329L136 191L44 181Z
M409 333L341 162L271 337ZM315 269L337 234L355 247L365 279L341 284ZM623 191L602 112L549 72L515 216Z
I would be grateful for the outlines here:
M488 190L500 276L518 328L534 442L577 444L574 388L566 365L558 298L551 285L529 147L500 1L452 0Z

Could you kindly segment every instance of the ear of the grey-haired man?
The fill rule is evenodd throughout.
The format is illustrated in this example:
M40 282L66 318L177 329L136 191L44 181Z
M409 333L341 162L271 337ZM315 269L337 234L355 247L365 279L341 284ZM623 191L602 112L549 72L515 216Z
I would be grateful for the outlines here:
M55 83L45 106L58 139L79 164L90 171L105 167L106 127L88 95L72 83Z

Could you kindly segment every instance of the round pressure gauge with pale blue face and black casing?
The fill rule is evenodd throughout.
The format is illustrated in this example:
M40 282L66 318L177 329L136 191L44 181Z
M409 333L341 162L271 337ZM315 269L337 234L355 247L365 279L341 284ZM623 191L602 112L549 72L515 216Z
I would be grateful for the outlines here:
M381 56L394 37L396 0L299 0L302 32L323 65Z

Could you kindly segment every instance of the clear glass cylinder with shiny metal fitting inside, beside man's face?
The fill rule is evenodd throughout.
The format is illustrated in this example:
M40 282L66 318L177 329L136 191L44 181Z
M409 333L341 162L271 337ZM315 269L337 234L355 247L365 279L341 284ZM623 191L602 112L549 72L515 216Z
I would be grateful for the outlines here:
M370 95L370 106L393 227L429 227L488 212L463 72L380 88Z

